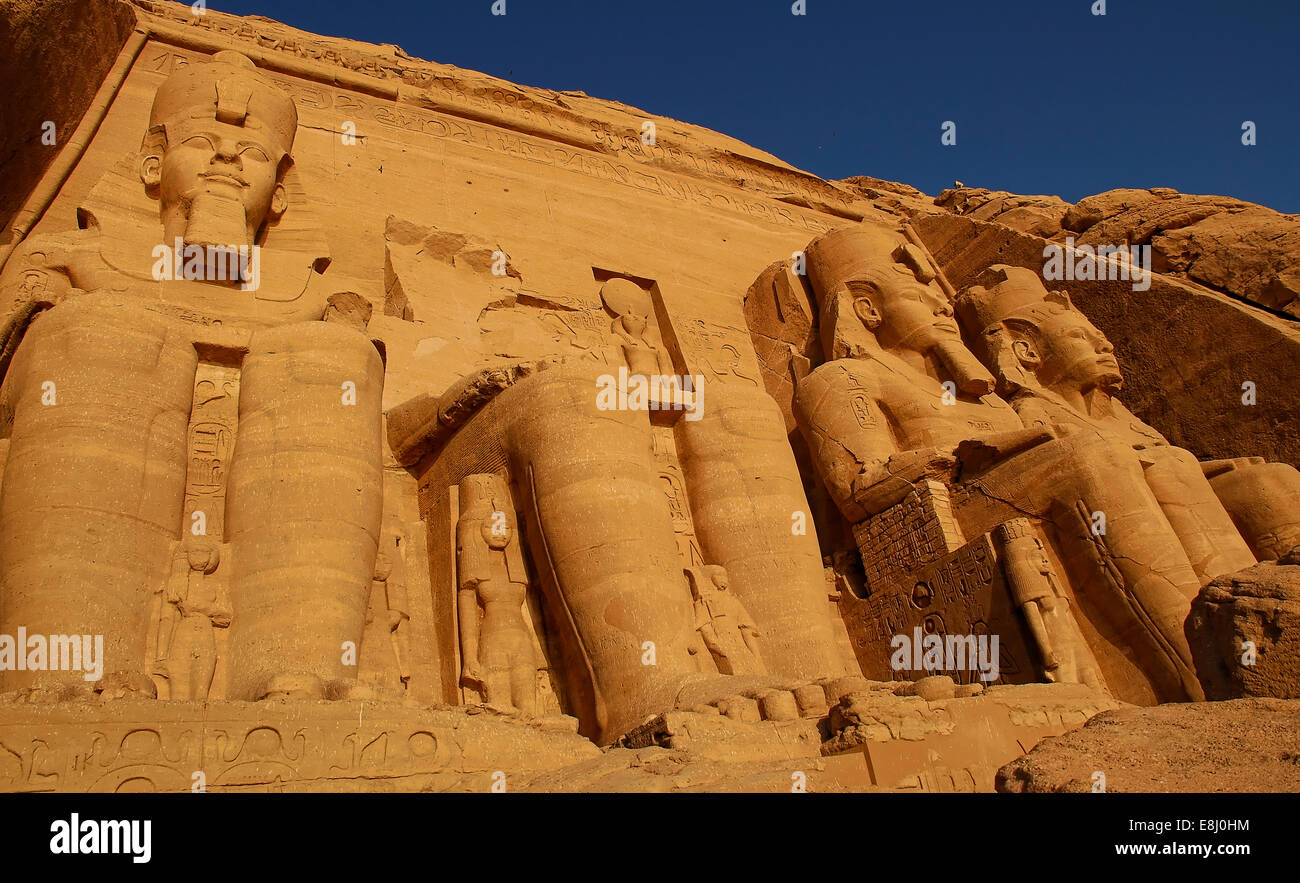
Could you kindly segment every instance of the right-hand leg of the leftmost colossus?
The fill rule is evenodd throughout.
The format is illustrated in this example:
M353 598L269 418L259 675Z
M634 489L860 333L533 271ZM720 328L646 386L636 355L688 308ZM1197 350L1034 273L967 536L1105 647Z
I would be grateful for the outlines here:
M356 680L380 536L382 390L380 354L356 330L254 334L226 503L230 698L320 696Z

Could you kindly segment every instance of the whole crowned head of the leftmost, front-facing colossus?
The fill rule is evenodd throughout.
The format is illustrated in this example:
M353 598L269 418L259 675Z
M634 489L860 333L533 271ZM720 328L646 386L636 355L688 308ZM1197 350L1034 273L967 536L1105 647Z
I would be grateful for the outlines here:
M177 69L159 86L140 147L140 179L161 202L166 235L252 246L289 207L296 130L292 99L246 56L222 51Z

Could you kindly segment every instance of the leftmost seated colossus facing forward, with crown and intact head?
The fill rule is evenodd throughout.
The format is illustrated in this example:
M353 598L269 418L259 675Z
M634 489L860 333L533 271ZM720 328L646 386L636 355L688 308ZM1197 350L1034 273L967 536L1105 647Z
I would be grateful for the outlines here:
M105 680L135 694L155 693L151 600L182 533L224 550L226 698L355 683L341 648L374 567L384 364L358 295L326 315L296 126L239 53L177 68L138 161L0 277L0 631L103 635ZM10 671L0 689L79 678Z

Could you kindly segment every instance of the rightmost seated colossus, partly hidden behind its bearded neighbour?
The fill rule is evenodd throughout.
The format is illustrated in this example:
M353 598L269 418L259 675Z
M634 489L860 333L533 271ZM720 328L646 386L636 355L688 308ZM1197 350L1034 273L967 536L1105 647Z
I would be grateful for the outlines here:
M998 391L1027 427L1128 443L1202 583L1300 545L1295 467L1258 458L1197 463L1115 398L1123 375L1114 347L1065 291L1048 291L1024 268L988 274L988 287L962 295L958 313Z

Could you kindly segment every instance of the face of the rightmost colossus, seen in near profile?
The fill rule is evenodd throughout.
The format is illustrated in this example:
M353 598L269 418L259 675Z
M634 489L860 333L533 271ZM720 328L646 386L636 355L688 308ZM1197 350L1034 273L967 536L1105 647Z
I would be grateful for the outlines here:
M1123 384L1115 347L1083 313L1052 310L1036 325L1032 339L1018 339L1013 346L1044 386L1117 391Z

